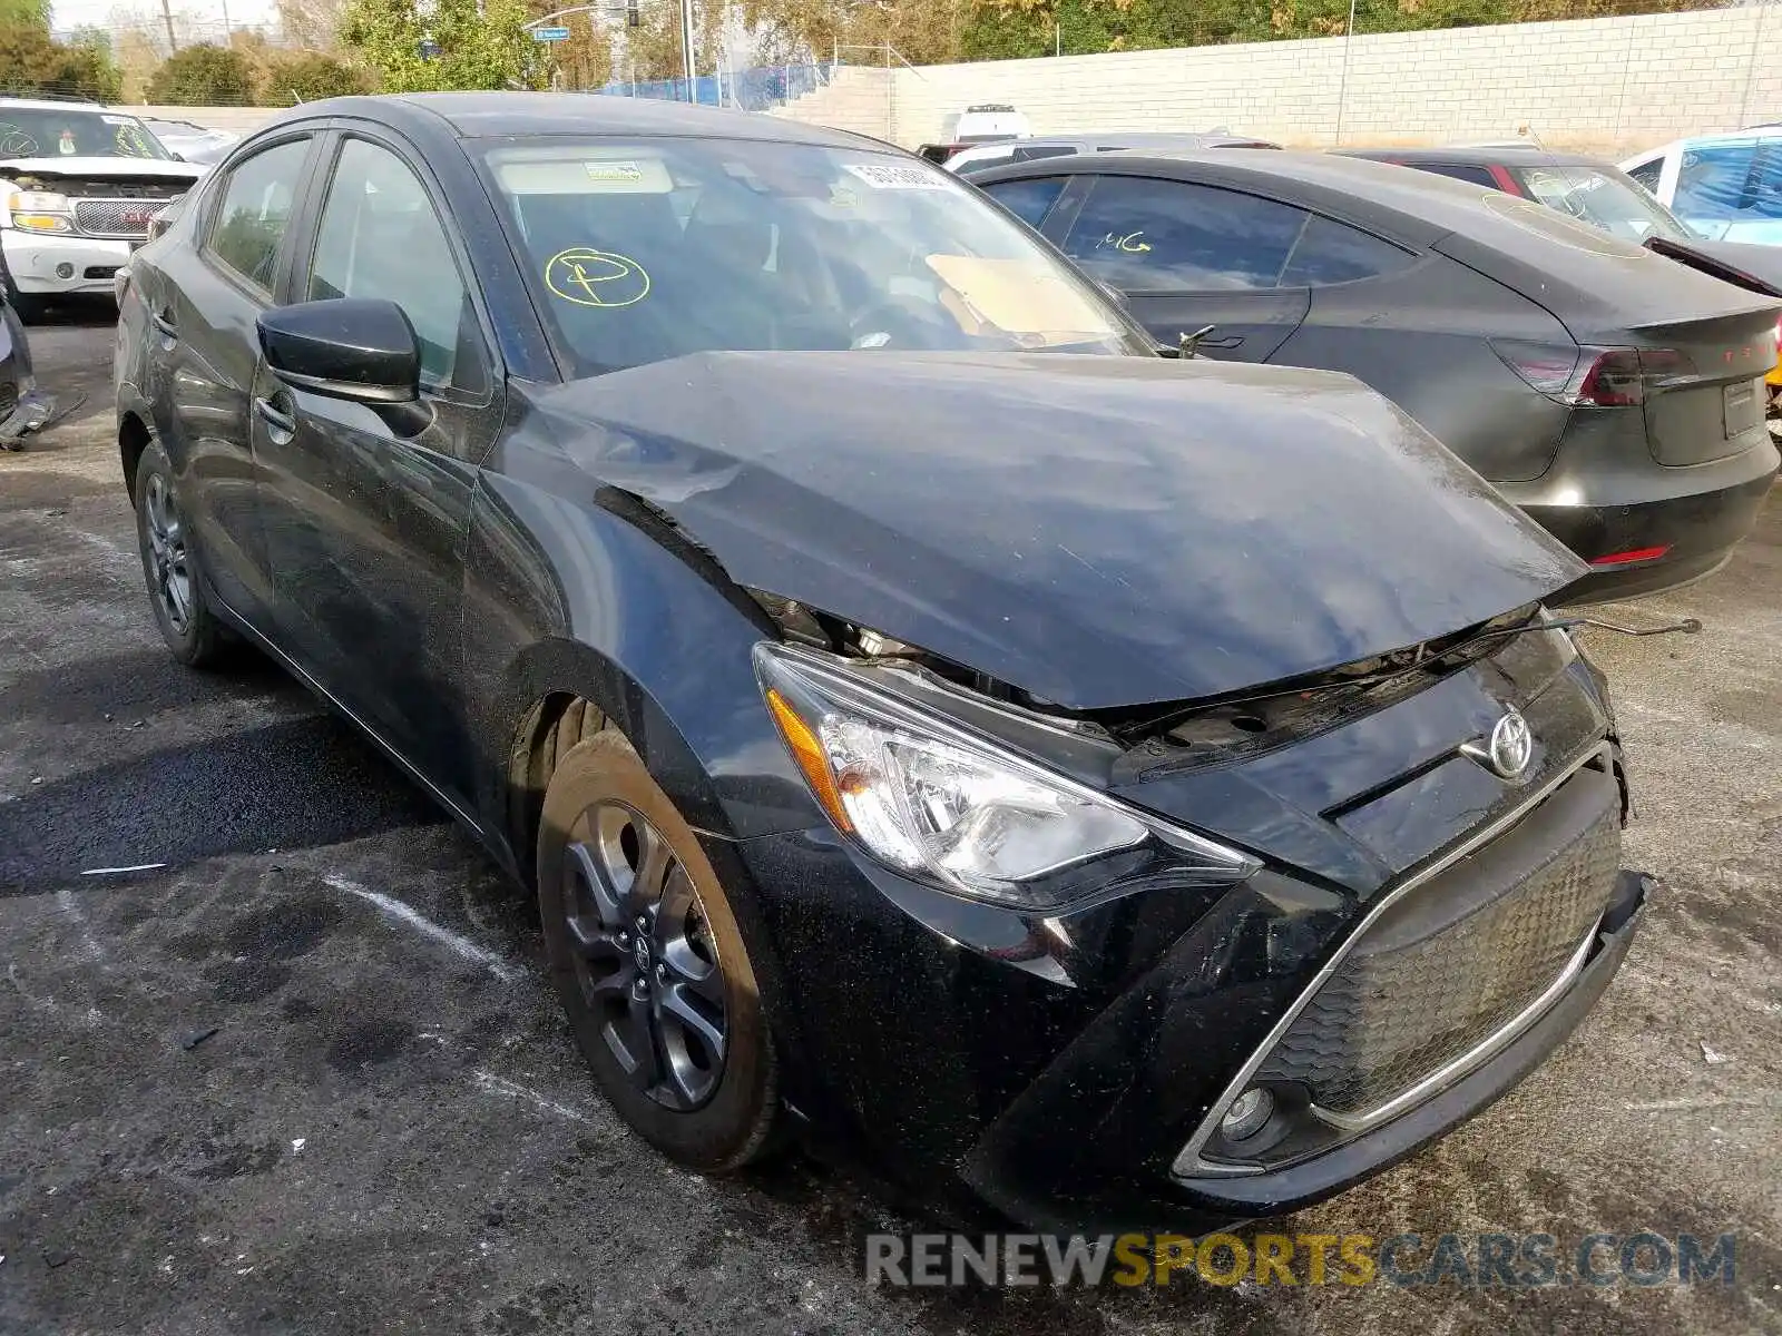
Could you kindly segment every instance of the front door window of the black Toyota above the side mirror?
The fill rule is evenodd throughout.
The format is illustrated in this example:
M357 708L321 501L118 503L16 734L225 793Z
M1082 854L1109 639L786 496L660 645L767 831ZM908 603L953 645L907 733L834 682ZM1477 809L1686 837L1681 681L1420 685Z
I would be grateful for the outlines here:
M460 344L474 330L463 278L426 187L388 150L364 139L340 146L315 233L308 296L394 301L415 326L422 381L454 383ZM456 383L479 388L479 379L465 385L479 371L469 365L474 356L465 362Z

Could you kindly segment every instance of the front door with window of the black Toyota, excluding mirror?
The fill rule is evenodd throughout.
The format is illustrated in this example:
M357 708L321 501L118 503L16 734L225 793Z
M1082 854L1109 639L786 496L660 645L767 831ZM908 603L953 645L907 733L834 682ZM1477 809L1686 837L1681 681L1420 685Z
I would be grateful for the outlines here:
M294 265L294 301L381 297L421 342L421 404L372 410L260 369L260 511L278 639L340 705L472 809L462 688L463 547L501 374L451 208L396 135L342 130Z

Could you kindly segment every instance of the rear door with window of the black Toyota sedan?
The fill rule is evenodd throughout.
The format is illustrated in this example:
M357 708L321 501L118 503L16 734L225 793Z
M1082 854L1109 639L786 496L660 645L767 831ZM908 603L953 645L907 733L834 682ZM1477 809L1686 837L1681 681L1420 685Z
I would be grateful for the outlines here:
M290 221L315 135L314 126L292 130L233 162L200 203L194 244L159 246L143 274L153 344L144 390L178 474L185 522L217 597L262 629L271 581L255 522L255 321L290 262Z

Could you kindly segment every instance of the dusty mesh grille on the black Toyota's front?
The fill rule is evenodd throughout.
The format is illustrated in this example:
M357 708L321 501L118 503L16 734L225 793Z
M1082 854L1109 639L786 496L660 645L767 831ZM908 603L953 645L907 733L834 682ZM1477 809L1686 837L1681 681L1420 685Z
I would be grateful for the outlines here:
M1258 1079L1297 1081L1320 1108L1353 1117L1402 1094L1502 1030L1559 976L1609 901L1620 851L1618 812L1606 811L1467 917L1392 949L1369 949L1363 937Z

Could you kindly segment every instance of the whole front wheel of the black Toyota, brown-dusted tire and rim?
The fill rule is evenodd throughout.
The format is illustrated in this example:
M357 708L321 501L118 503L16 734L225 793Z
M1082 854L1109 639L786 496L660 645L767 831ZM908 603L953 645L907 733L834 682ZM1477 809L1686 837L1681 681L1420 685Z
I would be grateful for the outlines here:
M615 729L551 775L538 910L576 1042L620 1117L702 1174L757 1158L779 1097L748 951L699 837Z

